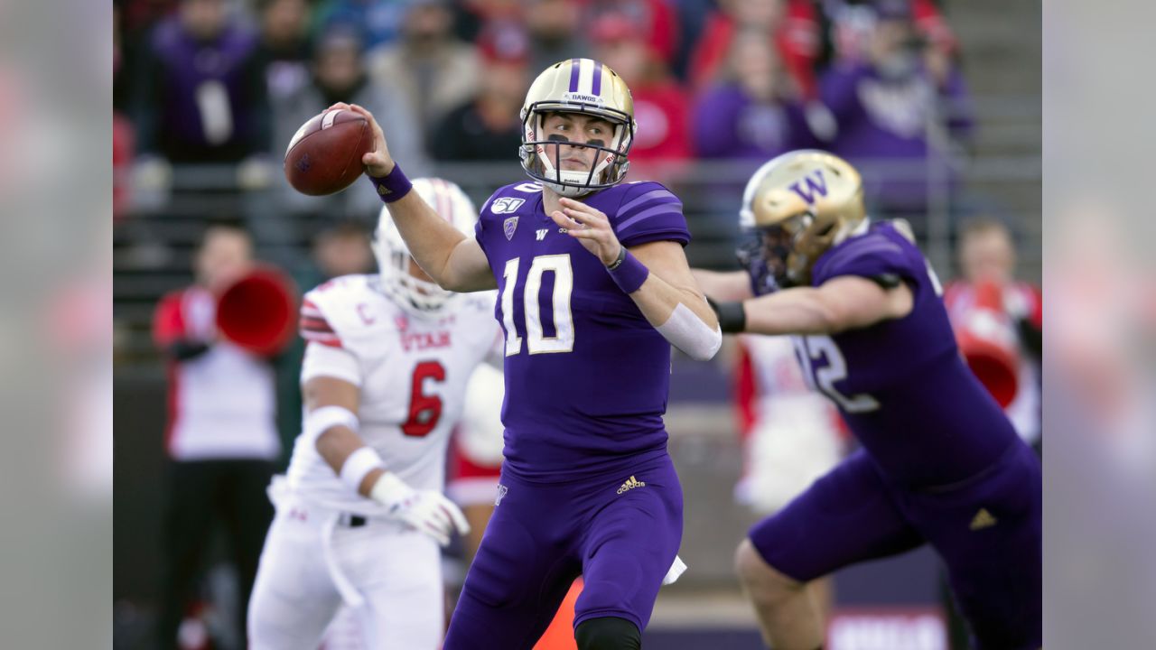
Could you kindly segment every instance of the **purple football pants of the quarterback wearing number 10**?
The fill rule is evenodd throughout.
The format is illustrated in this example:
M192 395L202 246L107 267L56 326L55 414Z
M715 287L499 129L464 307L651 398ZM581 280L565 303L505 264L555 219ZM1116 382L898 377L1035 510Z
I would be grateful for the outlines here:
M646 628L682 540L682 487L669 456L565 483L503 470L502 486L444 650L533 648L579 575L576 627L617 616Z

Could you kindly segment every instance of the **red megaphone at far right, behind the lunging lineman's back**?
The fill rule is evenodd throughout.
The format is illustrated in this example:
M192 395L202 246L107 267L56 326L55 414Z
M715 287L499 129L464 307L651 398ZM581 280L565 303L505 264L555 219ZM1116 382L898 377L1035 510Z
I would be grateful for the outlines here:
M976 301L956 326L956 342L979 383L1006 408L1020 390L1020 353L1015 327L994 282L976 285Z

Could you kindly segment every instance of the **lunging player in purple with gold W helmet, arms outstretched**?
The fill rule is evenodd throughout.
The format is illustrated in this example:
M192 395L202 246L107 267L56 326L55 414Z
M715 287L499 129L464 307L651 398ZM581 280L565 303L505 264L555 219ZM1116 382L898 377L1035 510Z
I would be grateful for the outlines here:
M739 547L765 641L820 648L809 582L931 544L978 648L1039 648L1039 463L959 356L910 228L870 223L858 171L816 150L764 164L740 220L747 273L699 274L732 300L716 305L722 330L794 334L861 445Z

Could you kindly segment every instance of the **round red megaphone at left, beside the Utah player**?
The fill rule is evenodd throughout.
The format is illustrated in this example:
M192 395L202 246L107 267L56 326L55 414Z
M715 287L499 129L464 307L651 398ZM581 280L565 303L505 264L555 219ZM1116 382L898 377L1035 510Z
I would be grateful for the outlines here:
M297 287L272 266L258 266L217 298L217 332L262 356L281 352L297 323Z

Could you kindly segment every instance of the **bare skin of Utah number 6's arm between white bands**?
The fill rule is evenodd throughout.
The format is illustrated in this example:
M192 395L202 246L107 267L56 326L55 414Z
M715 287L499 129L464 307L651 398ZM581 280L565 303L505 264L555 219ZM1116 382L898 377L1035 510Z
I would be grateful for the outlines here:
M357 413L361 404L361 389L344 379L335 377L318 376L312 377L302 386L302 396L305 401L305 427L310 428L310 416L321 412L327 406L340 407L349 413ZM316 418L316 415L314 415ZM318 427L324 426L317 424ZM311 431L312 433L312 431ZM335 423L316 431L314 446L321 458L328 463L334 473L341 475L341 468L355 451L365 446L365 441L353 430L348 423ZM361 480L357 493L369 496L373 483L385 473L385 470L376 467Z

